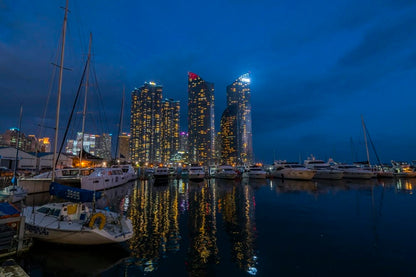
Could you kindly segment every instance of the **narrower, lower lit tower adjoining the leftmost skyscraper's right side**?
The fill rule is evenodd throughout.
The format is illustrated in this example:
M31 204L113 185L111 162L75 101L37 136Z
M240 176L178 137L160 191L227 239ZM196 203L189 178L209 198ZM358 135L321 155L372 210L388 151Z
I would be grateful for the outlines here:
M171 161L179 150L179 113L179 101L162 101L161 155L164 163Z

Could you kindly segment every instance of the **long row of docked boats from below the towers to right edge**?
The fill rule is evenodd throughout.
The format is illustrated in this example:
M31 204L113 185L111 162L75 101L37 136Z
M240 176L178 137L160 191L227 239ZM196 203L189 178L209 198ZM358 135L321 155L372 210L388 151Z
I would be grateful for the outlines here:
M393 163L393 162L392 162ZM154 171L154 178L156 182L164 183L163 181L169 178L182 178L191 181L202 181L204 178L218 178L218 179L239 179L239 178L279 178L279 179L294 179L294 180L311 180L311 179L371 179L371 178L393 178L416 177L416 171L404 163L393 163L395 166L391 168L386 167L368 167L357 164L342 164L335 163L332 160L325 162L315 158L309 158L304 161L304 164L275 161L267 170L261 164L255 164L250 167L232 167L230 165L221 165L215 167L214 170L204 168L199 165L192 165L182 169L171 169L167 167L159 167Z

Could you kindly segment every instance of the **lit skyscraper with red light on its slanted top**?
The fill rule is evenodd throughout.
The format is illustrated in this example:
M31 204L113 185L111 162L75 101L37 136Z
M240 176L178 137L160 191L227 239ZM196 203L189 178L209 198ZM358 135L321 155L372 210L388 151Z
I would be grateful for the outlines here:
M214 84L188 73L189 161L209 165L213 161L215 116Z

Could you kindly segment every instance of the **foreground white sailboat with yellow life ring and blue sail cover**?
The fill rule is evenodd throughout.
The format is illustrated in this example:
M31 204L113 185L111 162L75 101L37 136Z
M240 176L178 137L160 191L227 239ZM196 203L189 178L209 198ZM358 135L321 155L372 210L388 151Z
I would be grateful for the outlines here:
M57 183L51 184L50 192L76 202L24 208L22 214L25 216L29 237L72 245L120 243L132 238L133 226L130 219L119 213L92 209L84 203L98 199L99 192Z

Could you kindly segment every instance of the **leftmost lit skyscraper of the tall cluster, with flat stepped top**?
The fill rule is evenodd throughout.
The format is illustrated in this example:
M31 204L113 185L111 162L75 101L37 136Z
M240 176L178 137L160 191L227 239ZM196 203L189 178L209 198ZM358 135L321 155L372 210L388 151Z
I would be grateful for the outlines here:
M145 83L132 91L130 157L133 162L161 162L162 86Z

